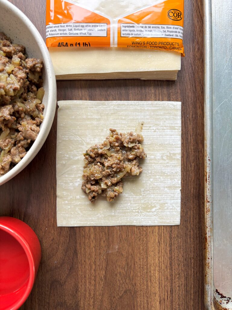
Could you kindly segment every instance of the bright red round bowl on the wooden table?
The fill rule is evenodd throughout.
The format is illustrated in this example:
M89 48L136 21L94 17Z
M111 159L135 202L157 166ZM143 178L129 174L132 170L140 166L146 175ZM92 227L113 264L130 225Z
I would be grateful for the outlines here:
M41 259L35 232L13 217L0 217L0 310L16 310L28 298Z

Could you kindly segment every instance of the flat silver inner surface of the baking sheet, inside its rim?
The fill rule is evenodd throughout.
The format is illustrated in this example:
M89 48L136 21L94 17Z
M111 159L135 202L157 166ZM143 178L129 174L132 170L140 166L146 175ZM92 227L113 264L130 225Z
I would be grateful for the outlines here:
M232 309L232 1L212 0L213 281ZM231 298L231 299L229 299ZM222 298L225 299L226 298ZM225 307L225 306L224 306Z

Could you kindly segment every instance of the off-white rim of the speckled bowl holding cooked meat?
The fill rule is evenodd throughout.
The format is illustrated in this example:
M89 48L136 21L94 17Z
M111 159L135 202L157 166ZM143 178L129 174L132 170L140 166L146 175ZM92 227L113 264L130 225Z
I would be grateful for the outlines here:
M34 24L28 19L28 17L22 11L20 11L17 7L15 7L11 2L6 0L0 0L0 6L11 10L15 15L17 15L18 18L21 20L21 22L29 29L29 31L35 37L43 57L43 62L45 64L44 67L46 68L48 79L48 90L49 90L45 118L43 120L42 123L43 125L41 126L37 139L34 141L33 145L27 151L27 154L21 159L21 161L18 164L16 164L11 170L9 170L5 175L0 176L0 185L2 185L7 181L9 181L10 179L12 179L19 172L21 172L37 155L42 145L44 144L51 129L55 115L57 90L56 90L55 73L49 55L49 51L45 45L43 38L41 37L40 33L38 32Z

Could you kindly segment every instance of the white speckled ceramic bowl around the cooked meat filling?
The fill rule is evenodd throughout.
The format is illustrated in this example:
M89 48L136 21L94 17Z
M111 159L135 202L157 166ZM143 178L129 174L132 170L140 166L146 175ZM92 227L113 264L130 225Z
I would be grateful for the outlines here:
M56 109L56 79L48 49L38 30L17 7L6 0L0 0L0 32L4 32L14 43L24 45L28 57L43 60L42 76L45 89L43 98L43 104L45 105L44 120L40 126L38 137L25 157L9 172L0 176L0 185L2 185L22 171L44 144L51 129Z

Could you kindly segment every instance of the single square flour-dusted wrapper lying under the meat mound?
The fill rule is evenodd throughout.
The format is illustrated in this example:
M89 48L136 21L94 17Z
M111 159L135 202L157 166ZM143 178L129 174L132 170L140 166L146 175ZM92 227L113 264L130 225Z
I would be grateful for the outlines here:
M58 106L58 226L180 224L180 102L71 100L58 101ZM142 173L125 177L123 192L114 201L100 194L90 203L81 189L83 153L104 141L109 127L140 132L135 128L143 121L142 147L147 157L140 159Z

